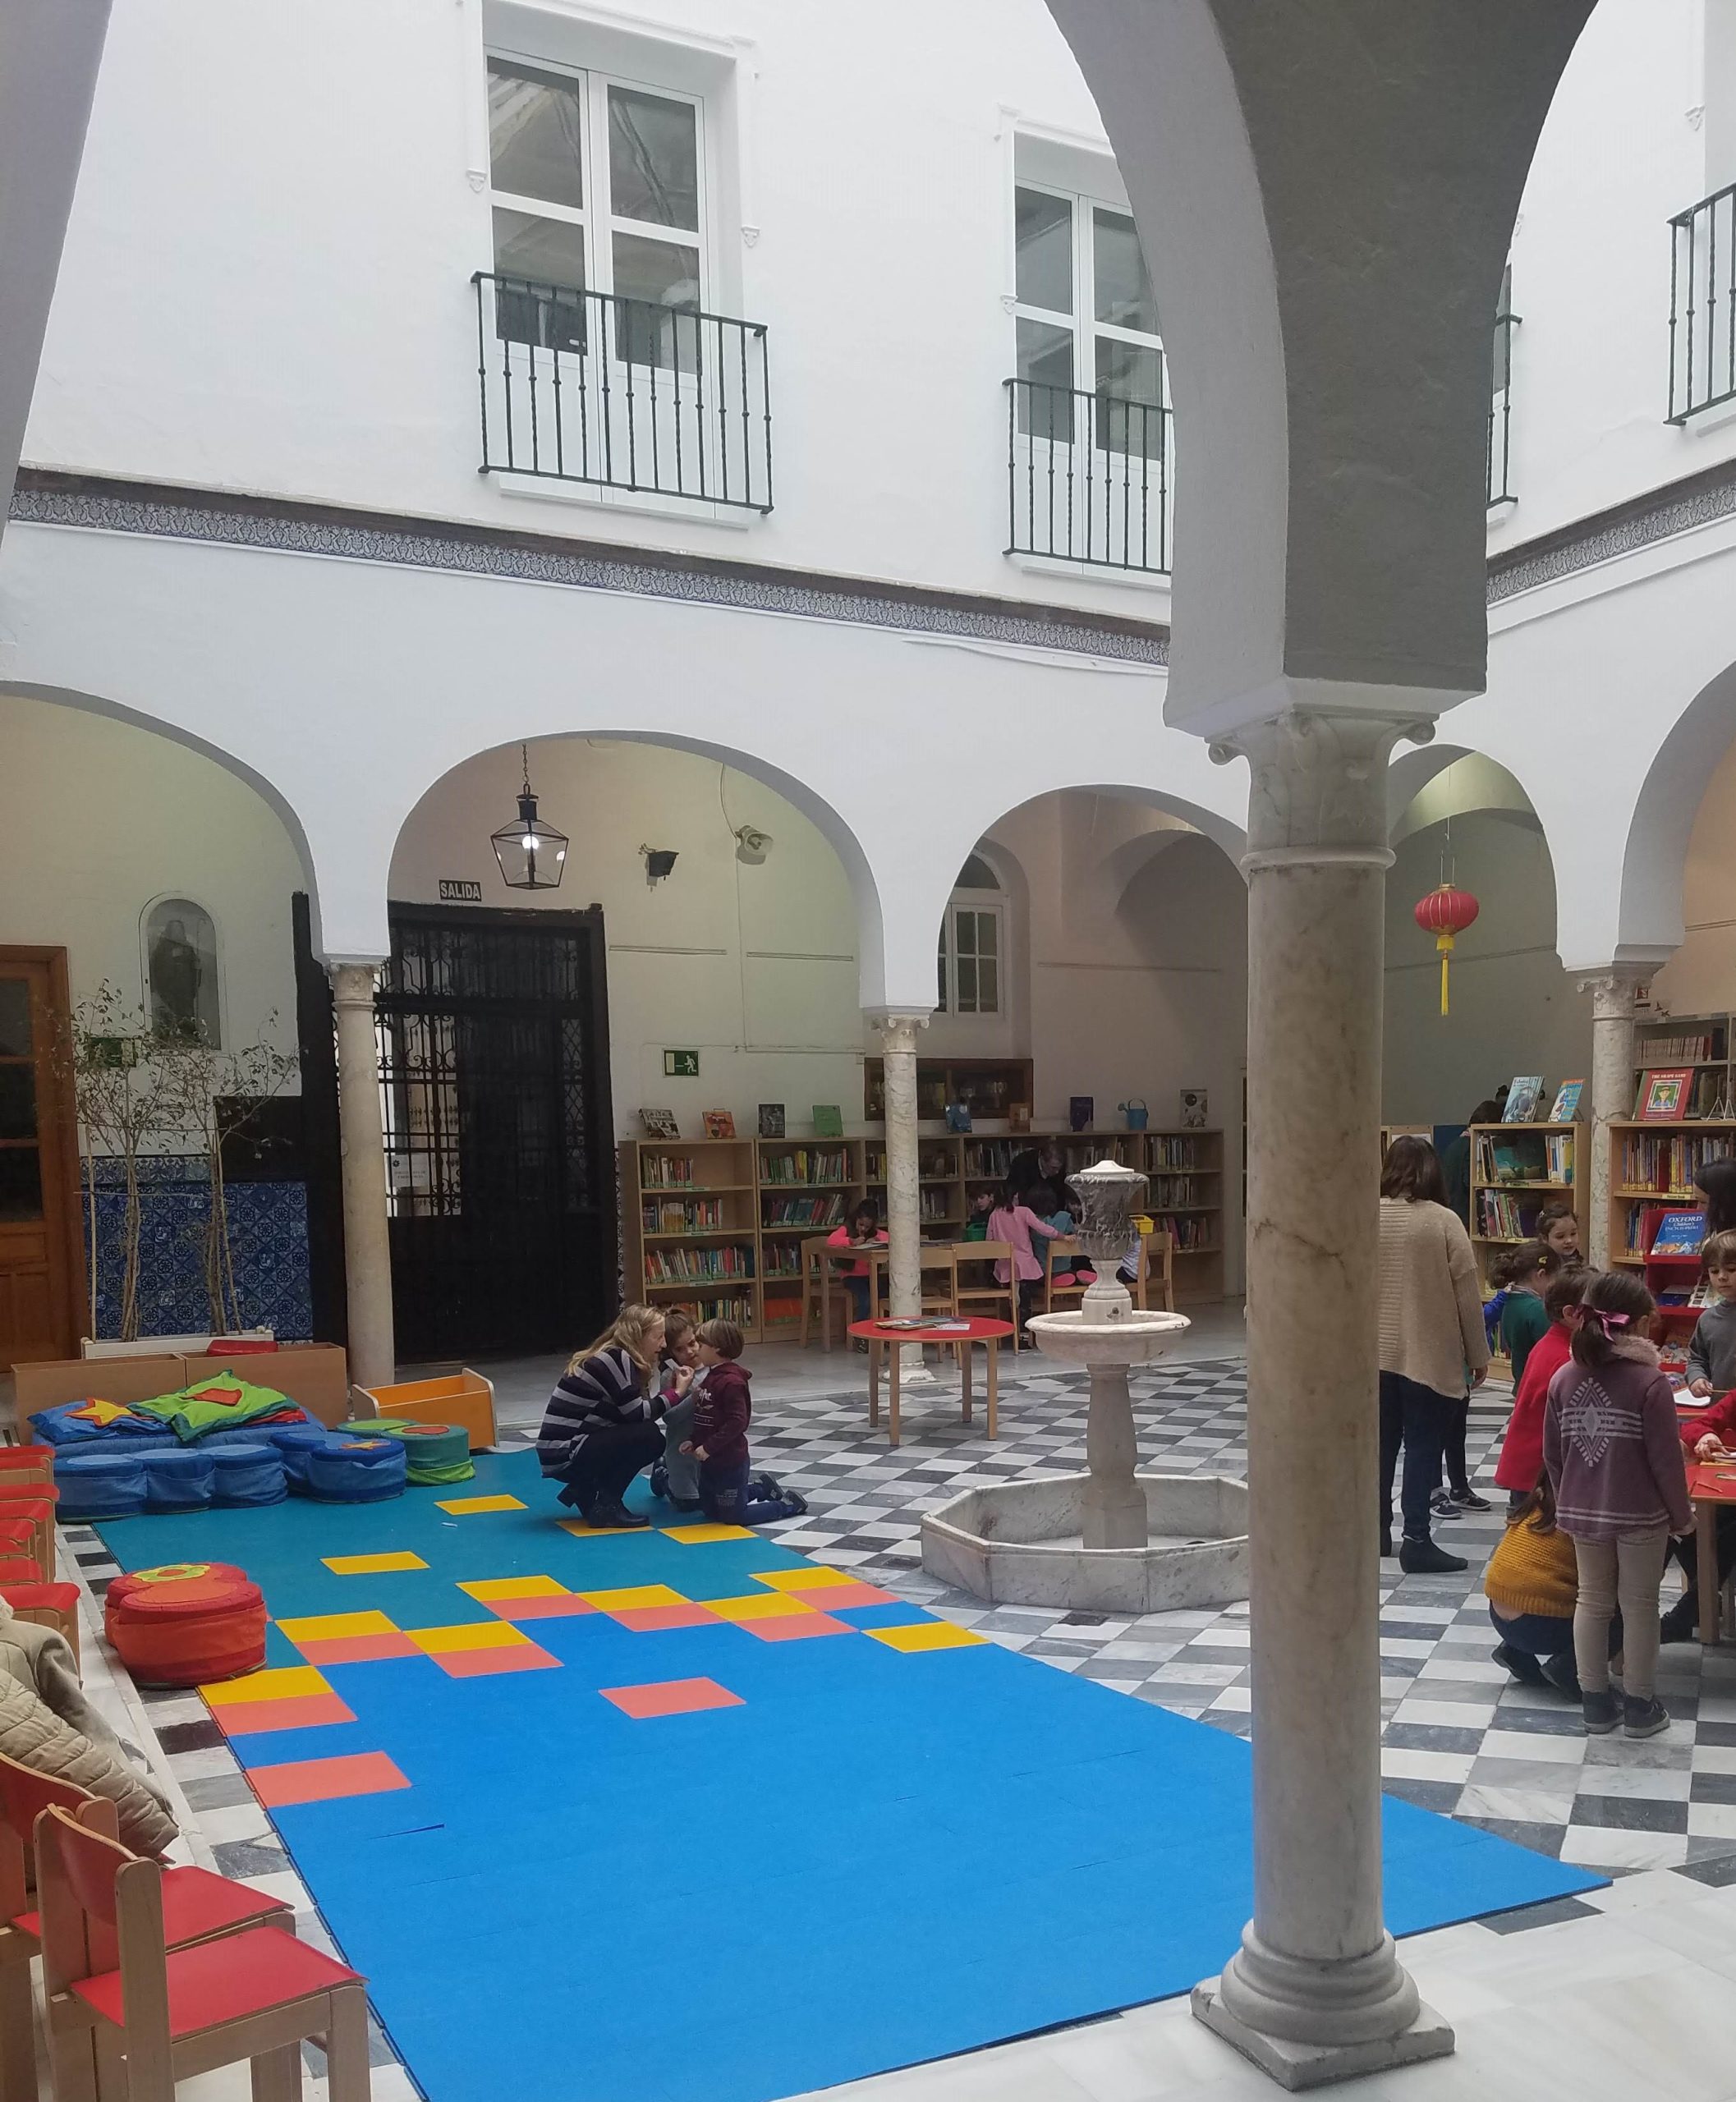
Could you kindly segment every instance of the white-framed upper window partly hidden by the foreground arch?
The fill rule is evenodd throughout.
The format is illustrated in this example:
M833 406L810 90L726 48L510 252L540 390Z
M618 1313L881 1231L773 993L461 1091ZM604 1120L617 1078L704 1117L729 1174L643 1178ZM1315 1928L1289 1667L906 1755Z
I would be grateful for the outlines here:
M1166 410L1162 336L1133 214L1045 183L1013 189L1019 431L1072 441L1091 399L1101 452L1156 458Z

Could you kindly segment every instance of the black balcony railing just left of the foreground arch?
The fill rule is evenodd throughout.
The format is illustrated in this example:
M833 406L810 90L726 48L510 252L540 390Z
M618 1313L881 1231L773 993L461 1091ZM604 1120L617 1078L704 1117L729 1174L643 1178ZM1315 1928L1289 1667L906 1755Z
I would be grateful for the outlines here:
M1166 399L1007 380L1007 553L1169 574L1173 429Z

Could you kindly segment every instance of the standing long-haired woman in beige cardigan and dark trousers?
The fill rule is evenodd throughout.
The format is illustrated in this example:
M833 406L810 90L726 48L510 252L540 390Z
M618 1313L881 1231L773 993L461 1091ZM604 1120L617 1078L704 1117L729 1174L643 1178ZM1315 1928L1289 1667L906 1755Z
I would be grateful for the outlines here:
M1389 1555L1393 1474L1404 1446L1400 1509L1406 1574L1463 1570L1429 1539L1429 1499L1442 1450L1488 1368L1477 1265L1463 1219L1446 1209L1440 1156L1427 1139L1402 1137L1381 1167L1381 1553Z

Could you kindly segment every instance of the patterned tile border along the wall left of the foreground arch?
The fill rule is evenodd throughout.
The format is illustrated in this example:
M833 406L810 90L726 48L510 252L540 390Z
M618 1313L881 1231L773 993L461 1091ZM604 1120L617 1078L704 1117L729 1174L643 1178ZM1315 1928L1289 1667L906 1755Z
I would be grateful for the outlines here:
M1063 650L1131 664L1169 662L1169 628L1156 622L1116 620L1070 607L1021 610L1003 599L916 586L853 589L755 563L662 557L641 549L494 532L456 521L345 513L319 504L235 500L204 490L103 481L46 469L19 473L11 515L36 526L84 526L162 540L208 540L343 561L521 578L578 591L620 591L918 635L958 635L1026 650Z

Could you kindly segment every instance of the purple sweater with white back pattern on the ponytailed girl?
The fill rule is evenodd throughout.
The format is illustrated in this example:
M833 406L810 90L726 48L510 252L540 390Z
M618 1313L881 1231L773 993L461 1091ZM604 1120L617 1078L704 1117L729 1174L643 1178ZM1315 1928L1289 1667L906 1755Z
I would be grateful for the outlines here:
M1675 1396L1641 1337L1625 1337L1595 1371L1568 1358L1549 1381L1543 1465L1555 1520L1580 1541L1694 1524Z

